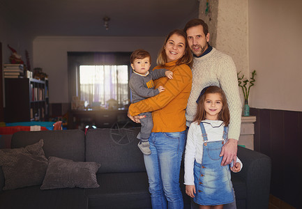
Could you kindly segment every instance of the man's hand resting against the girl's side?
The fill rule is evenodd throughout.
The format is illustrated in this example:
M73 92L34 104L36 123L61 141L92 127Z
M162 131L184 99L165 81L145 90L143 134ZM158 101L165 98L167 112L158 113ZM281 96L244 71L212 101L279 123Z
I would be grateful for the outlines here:
M221 166L226 166L230 164L232 160L234 160L234 164L236 164L236 156L237 156L237 144L238 140L229 139L224 146L222 146L222 150L220 153L220 157L223 156Z

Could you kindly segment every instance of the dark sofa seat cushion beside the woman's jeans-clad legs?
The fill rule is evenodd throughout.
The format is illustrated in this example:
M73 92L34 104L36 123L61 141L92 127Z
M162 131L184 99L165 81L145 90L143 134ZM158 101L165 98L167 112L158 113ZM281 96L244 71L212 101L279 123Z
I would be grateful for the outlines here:
M146 172L98 173L97 178L100 187L84 190L90 209L151 208Z

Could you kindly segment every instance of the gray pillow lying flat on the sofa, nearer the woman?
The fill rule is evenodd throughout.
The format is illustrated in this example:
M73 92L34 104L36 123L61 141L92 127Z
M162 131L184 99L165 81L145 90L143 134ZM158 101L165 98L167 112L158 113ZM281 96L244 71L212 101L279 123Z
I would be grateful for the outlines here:
M40 189L57 188L96 188L96 171L100 164L96 162L74 162L59 157L49 157L49 164L43 185Z

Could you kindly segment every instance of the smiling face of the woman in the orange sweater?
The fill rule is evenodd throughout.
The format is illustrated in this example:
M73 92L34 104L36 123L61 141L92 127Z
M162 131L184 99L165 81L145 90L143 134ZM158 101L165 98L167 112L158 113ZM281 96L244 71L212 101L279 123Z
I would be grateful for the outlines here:
M180 59L186 50L186 39L183 36L173 34L167 40L165 45L165 52L167 55L167 62L176 61Z

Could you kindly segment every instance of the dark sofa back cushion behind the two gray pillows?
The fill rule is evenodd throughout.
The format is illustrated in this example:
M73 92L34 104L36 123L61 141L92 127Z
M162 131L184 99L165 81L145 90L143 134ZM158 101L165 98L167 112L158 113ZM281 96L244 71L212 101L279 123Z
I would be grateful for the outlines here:
M16 132L11 139L12 148L20 148L44 140L45 157L55 156L77 162L85 160L85 134L82 130L49 130Z

